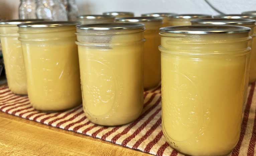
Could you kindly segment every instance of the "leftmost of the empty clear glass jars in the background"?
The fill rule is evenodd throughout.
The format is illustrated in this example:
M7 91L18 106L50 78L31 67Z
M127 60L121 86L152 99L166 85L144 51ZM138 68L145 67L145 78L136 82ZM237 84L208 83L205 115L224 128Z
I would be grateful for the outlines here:
M35 0L20 0L19 19L36 19Z

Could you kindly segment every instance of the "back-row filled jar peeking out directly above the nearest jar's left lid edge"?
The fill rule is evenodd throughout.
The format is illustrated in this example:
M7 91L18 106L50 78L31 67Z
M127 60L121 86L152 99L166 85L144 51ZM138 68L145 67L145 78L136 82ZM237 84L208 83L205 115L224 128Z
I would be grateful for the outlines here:
M180 14L169 15L169 26L185 26L191 25L190 20L195 18L212 18L212 15L204 14Z

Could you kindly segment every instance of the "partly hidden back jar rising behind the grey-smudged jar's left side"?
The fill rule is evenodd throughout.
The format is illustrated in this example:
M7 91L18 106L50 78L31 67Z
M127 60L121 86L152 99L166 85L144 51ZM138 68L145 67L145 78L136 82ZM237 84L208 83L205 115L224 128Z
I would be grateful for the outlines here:
M115 17L111 15L81 15L77 20L82 24L113 23Z

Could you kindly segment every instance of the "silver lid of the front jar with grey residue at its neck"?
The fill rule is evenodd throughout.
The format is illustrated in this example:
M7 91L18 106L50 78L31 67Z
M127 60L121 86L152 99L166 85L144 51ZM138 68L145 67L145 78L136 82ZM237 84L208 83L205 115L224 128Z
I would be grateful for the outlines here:
M85 30L145 29L145 25L141 23L102 23L78 25L77 28Z

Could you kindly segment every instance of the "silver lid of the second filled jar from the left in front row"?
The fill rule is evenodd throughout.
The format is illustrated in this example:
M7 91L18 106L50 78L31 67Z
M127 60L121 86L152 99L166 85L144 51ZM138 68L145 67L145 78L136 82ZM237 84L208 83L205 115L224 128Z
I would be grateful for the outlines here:
M51 21L51 22L23 23L23 24L18 24L18 27L43 28L43 27L72 26L72 25L78 25L78 24L80 24L80 22Z

